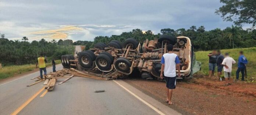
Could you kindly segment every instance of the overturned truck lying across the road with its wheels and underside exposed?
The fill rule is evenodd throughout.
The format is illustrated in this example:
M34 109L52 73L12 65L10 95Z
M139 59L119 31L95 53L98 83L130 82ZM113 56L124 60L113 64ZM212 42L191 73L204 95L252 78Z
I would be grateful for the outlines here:
M78 52L76 57L61 56L61 62L64 68L72 67L101 77L114 73L116 78L125 78L136 69L143 79L160 79L161 57L167 53L168 44L174 46L173 52L179 56L181 79L191 78L195 54L190 39L184 36L161 35L158 39L146 39L142 46L133 38L123 44L117 40L107 45L97 43L92 49Z

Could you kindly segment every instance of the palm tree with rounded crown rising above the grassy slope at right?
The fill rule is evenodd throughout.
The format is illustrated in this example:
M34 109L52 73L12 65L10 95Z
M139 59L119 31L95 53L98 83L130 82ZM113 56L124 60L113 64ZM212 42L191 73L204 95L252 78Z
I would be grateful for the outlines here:
M225 37L230 39L230 46L231 46L231 40L233 40L233 49L234 49L235 37L241 38L241 33L239 32L239 27L232 25L231 27L227 27L226 31L227 31L227 33L225 34Z

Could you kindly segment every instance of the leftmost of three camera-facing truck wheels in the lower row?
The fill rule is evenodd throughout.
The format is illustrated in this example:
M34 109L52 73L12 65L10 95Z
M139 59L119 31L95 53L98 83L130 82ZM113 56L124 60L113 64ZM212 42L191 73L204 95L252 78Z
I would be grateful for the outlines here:
M90 68L93 63L93 56L89 52L82 52L78 57L79 64L84 68Z

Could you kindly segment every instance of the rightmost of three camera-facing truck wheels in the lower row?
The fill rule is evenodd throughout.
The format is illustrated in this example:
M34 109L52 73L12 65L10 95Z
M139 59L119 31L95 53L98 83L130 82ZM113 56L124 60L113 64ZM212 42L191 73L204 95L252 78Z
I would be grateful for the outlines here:
M115 68L122 72L127 72L131 66L132 63L127 58L118 58L115 61Z

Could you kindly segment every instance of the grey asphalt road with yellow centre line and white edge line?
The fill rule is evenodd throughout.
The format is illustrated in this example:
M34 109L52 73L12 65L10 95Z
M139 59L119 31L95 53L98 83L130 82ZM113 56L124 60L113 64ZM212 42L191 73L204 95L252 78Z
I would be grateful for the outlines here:
M61 64L56 66L56 70L60 69ZM51 71L51 67L47 68L47 72ZM33 83L31 78L38 75L36 72L0 84L1 115L10 115L18 110L20 115L179 114L123 81L73 77L58 85L64 79L57 79L54 90L40 97L46 91L42 89L43 82L26 86ZM95 93L94 90L105 92ZM34 99L31 98L33 96Z

